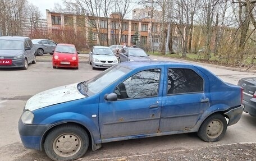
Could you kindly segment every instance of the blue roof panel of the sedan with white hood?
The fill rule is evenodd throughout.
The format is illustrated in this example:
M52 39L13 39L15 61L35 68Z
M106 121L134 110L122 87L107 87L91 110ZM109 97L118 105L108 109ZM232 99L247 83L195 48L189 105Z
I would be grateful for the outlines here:
M139 68L139 67L149 67L149 66L156 66L156 65L175 65L175 66L195 66L192 65L191 63L183 63L183 62L173 62L173 61L134 61L134 62L122 62L119 63L120 66L124 66L127 68Z

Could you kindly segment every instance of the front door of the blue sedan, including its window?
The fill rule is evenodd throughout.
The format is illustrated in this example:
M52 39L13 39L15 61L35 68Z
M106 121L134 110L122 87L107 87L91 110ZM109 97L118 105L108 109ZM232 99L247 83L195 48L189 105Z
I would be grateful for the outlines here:
M100 135L113 137L154 134L158 131L162 98L161 70L144 70L115 88L118 100L100 104Z

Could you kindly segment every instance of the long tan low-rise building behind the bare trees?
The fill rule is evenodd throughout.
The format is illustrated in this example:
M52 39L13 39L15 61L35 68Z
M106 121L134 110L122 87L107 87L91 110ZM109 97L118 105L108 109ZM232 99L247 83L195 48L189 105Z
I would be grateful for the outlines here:
M86 41L92 44L112 45L119 42L128 46L150 44L155 48L159 45L161 24L156 18L121 20L119 13L112 13L109 17L78 15L65 11L59 13L46 10L46 13L49 30L72 29L75 33L84 34ZM134 13L138 15L138 12Z

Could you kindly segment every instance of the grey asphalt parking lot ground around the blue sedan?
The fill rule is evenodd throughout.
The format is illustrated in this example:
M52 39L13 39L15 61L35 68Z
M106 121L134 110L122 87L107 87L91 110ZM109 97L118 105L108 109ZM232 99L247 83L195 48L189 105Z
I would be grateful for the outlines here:
M255 73L207 68L233 84L241 77L255 76ZM21 144L17 122L26 100L40 91L88 80L102 71L92 70L88 63L80 63L79 70L53 69L51 62L29 65L28 70L0 69L1 160L49 160L43 152L25 149ZM230 147L228 153L233 158L215 156L215 160L256 160L255 142L256 118L243 113L241 120L228 127L225 137L218 142L203 142L194 133L109 142L97 151L89 150L80 160L214 160L211 154L226 156L225 149ZM239 154L245 158L237 159Z

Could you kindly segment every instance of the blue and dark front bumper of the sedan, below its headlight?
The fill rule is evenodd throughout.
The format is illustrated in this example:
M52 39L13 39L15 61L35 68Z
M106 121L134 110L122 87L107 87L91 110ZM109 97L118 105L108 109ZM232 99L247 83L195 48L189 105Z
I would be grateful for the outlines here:
M42 150L42 138L51 125L26 125L19 120L19 133L22 144L29 149Z

